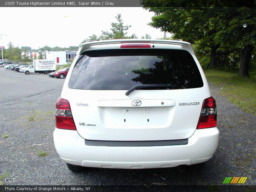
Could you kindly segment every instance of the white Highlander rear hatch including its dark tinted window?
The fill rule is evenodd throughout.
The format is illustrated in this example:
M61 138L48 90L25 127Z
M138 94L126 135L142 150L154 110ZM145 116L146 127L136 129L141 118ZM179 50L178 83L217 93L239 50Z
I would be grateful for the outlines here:
M61 97L69 101L83 138L177 140L195 132L202 102L210 95L199 64L186 50L150 47L79 56Z

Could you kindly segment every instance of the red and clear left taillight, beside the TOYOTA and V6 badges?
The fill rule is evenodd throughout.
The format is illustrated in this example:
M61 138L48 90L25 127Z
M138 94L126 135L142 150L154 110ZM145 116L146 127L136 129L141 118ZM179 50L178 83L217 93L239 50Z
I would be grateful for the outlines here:
M68 100L61 98L57 100L55 122L59 129L76 130Z

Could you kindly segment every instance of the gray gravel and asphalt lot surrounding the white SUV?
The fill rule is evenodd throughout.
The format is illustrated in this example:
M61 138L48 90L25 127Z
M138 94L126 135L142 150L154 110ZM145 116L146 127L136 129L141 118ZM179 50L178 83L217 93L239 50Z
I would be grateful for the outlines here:
M42 81L36 81L38 90L24 96L19 94L18 82L25 82L28 78L34 82L39 75L27 76L3 70L0 71L1 81L7 75L10 76L9 81L15 78L15 82L12 82L12 89L15 90L12 97L15 100L0 100L0 136L8 135L7 138L0 138L0 176L5 174L0 185L222 185L228 176L248 177L246 185L256 184L256 118L220 96L218 92L221 87L210 86L218 106L220 142L215 155L204 164L201 172L180 174L174 168L88 168L85 172L73 173L55 151L52 136L55 102L60 96L64 79L40 75ZM0 83L0 89L1 94L10 99L4 93L8 89L7 84L8 79L5 79L4 83ZM40 87L44 88L40 91ZM48 156L38 156L42 151L47 152ZM6 177L30 179L30 182L5 182ZM31 182L32 179L34 182ZM43 179L52 182L42 182ZM60 182L54 182L54 179Z

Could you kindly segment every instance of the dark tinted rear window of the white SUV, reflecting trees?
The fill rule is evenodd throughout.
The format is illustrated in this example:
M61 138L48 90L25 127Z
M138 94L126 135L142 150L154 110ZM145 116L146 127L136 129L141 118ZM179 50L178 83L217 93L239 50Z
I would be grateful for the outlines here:
M184 50L117 49L87 51L80 56L69 79L72 89L128 90L135 85L189 89L203 86L191 54Z

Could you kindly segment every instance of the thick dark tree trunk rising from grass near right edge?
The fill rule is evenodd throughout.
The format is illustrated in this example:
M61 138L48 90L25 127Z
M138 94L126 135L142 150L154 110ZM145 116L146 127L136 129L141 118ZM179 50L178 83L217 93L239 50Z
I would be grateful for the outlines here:
M241 50L240 53L240 68L238 75L239 76L244 76L244 77L249 77L249 64L250 64L250 59L252 55L252 45L246 45L244 49Z

